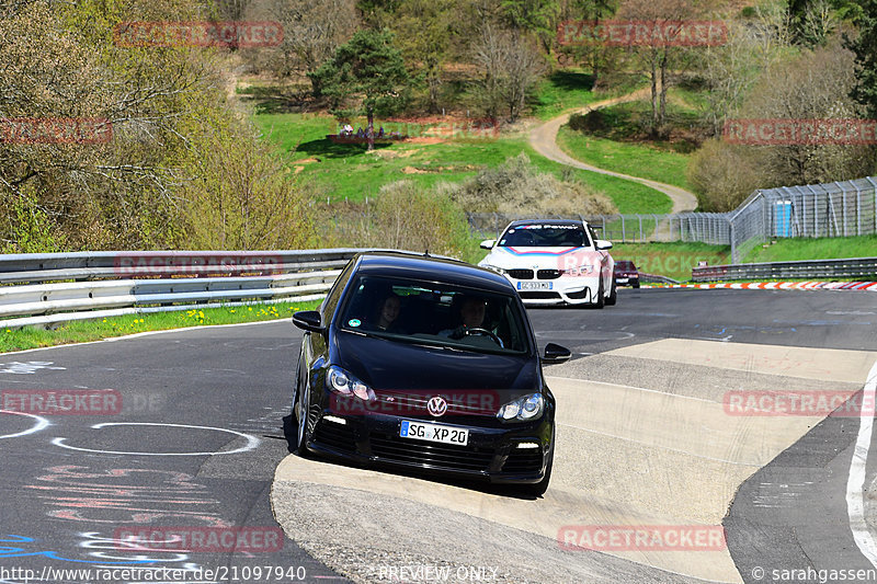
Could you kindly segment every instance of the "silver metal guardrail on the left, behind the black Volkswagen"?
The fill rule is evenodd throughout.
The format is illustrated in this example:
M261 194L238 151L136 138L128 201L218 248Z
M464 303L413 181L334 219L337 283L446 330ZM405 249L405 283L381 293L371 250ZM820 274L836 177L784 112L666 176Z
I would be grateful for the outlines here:
M215 302L315 300L360 251L0 255L0 331Z

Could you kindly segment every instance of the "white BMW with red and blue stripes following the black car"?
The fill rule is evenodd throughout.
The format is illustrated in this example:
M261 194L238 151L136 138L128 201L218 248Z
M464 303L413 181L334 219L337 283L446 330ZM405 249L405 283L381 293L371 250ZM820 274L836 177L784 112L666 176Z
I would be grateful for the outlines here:
M499 240L481 242L490 253L478 265L504 275L525 305L616 301L612 243L599 240L585 221L513 221Z

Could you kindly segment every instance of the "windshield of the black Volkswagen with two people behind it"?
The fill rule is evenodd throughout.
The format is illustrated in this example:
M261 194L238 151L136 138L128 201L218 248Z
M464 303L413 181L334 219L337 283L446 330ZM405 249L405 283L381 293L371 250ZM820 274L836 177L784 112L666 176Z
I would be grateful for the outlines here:
M531 350L525 316L510 295L384 276L362 276L349 294L342 330L488 353Z

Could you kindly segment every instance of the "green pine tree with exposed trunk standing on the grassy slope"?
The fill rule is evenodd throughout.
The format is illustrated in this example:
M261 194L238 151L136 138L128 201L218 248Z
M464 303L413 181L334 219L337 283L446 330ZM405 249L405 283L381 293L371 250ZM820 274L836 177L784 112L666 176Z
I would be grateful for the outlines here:
M353 112L362 111L368 118L368 150L375 148L375 113L390 114L409 100L410 78L389 31L357 31L310 77L332 101L335 115L351 114L343 106L352 98L360 100Z

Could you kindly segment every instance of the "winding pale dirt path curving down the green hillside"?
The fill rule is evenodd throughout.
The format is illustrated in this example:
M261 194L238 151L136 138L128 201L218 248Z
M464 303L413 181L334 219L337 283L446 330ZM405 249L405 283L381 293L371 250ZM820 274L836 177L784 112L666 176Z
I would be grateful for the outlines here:
M635 91L634 93L628 93L627 95L622 95L620 98L613 98L611 100L603 100L601 102L592 103L588 107L579 110L581 113L586 113L592 110L600 110L602 107L608 107L610 105L615 105L618 103L626 103L639 100L643 96L649 95L649 89L643 89L639 91ZM685 213L690 210L694 210L697 207L697 197L694 193L690 193L684 188L680 188L679 186L673 186L672 184L664 184L659 183L657 181L651 181L649 179L642 179L640 176L630 176L629 174L622 174L620 172L614 172L611 170L601 169L597 167L592 167L591 164L585 164L574 158L570 157L563 150L560 149L560 146L557 144L557 131L560 129L560 126L569 122L569 116L573 112L566 113L561 116L555 117L549 119L545 124L540 126L536 126L529 133L529 144L533 145L533 148L550 160L555 162L560 162L561 164L567 164L568 167L574 167L577 169L589 170L591 172L599 172L600 174L607 174L610 176L617 176L618 179L627 179L629 181L636 181L638 183L645 184L656 191L660 191L664 193L673 202L673 209L671 213Z

